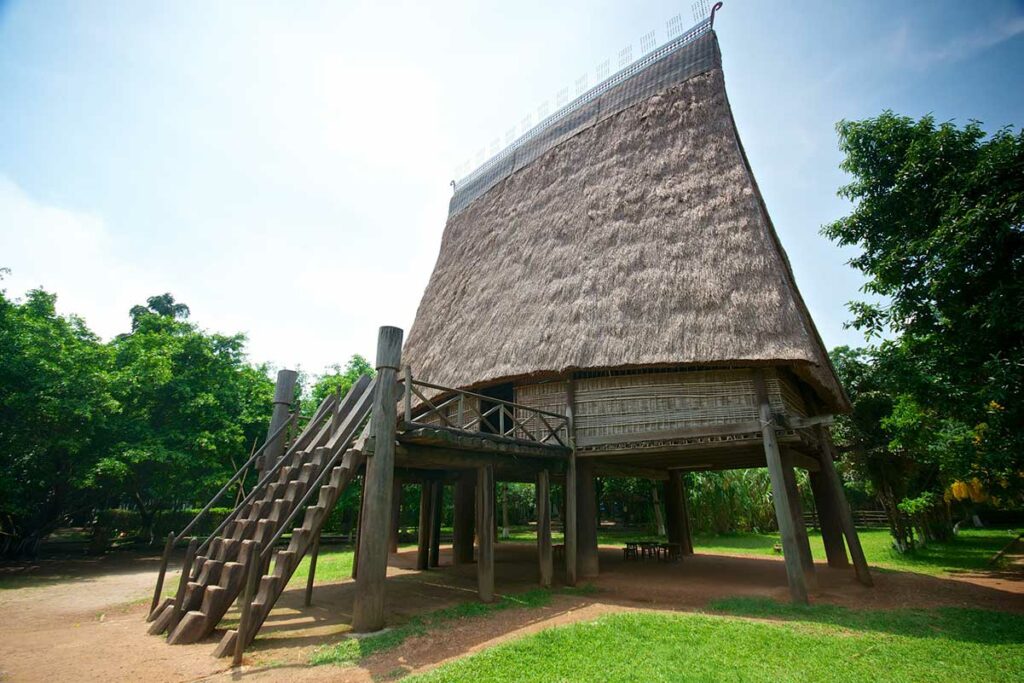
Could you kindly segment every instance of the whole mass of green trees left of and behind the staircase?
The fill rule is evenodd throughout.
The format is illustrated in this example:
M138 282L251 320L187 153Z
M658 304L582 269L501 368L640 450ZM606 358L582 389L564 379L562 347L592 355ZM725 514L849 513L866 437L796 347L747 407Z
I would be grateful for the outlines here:
M55 302L42 290L22 301L0 292L5 554L31 553L62 524L110 526L105 509L130 510L152 537L168 515L205 504L266 435L273 382L247 360L244 336L201 330L163 294L103 343ZM313 394L366 371L353 358Z

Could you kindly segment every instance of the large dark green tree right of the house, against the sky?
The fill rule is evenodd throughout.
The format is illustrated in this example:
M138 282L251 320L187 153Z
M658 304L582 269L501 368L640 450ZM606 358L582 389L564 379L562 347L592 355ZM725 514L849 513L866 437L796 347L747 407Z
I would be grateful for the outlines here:
M872 299L852 325L885 339L833 353L854 407L839 432L912 547L948 531L947 504L1024 488L1024 132L887 112L839 134L854 209L823 232L859 248Z

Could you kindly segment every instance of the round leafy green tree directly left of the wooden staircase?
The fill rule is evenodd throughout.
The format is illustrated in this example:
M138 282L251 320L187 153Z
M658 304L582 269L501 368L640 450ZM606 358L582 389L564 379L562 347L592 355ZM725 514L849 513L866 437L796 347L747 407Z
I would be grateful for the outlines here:
M180 319L184 304L132 309L133 331L111 342L111 391L121 405L90 483L138 509L205 502L265 435L273 383L245 358L243 335ZM166 305L164 305L166 304Z

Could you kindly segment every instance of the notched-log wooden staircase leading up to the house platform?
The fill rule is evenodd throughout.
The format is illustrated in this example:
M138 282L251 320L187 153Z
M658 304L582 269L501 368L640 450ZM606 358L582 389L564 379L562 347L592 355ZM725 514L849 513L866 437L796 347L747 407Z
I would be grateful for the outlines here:
M255 618L250 624L254 628L247 643L255 637L362 464L362 456L350 446L370 413L375 384L362 377L330 415L317 411L296 440L300 447L286 454L228 517L228 522L200 548L183 591L179 590L177 598L165 600L151 614L151 634L168 632L171 644L194 643L209 636L242 592L249 562L255 559L267 567L275 554L273 571L263 577L252 603ZM274 544L317 488L316 504L306 507L302 523L292 528L287 549L274 553ZM259 558L252 557L256 548L261 549ZM234 632L228 632L217 653L230 653L225 643L233 643L233 639Z

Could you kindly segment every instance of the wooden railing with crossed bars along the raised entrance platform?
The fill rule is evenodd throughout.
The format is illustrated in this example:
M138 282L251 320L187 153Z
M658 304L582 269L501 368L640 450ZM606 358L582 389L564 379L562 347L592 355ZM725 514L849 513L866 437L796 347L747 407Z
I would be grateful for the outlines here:
M569 423L564 415L417 380L408 366L399 382L407 425L568 447ZM436 392L433 397L428 396L432 392ZM490 407L484 410L484 403Z

